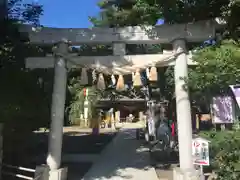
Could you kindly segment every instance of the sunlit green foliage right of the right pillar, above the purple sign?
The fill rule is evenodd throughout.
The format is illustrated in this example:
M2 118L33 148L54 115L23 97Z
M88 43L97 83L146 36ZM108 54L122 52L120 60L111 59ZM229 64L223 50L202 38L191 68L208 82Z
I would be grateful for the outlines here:
M240 46L234 41L197 50L193 60L198 66L189 71L192 92L211 97L227 94L229 85L240 83Z

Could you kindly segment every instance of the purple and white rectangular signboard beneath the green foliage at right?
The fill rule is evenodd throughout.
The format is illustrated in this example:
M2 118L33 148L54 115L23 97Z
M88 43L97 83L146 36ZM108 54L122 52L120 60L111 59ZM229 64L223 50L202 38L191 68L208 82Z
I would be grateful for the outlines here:
M213 123L233 123L235 119L235 104L231 96L213 98L211 113Z

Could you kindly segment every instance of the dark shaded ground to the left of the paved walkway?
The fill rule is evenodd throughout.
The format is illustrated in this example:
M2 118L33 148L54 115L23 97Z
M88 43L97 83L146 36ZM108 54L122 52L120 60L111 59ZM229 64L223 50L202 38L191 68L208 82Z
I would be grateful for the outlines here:
M115 137L115 133L104 133L92 135L80 132L64 133L63 136L63 154L100 154L108 143ZM4 163L15 166L35 169L37 165L46 164L46 155L48 151L48 133L33 133L26 142L21 151L17 147L12 152L4 152ZM92 162L63 162L63 167L68 167L69 178L82 177L92 166ZM4 171L18 173L26 176L33 176L33 173L19 171L10 168L4 168ZM18 180L9 175L3 179Z

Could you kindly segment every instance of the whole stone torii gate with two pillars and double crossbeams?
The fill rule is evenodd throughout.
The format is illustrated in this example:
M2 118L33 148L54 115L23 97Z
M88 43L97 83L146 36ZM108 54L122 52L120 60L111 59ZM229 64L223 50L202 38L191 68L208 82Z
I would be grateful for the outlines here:
M34 28L22 26L30 42L40 46L57 48L52 56L30 57L26 60L27 68L55 69L51 129L47 164L50 167L49 179L55 180L61 165L62 128L66 96L67 68L78 64L97 69L108 74L130 74L144 69L153 63L156 66L175 67L175 95L178 120L180 168L184 172L193 169L192 161L192 126L191 107L188 91L184 89L183 78L187 77L188 64L194 65L187 43L203 42L215 37L213 21L200 21L188 24L135 26L124 28ZM112 56L78 56L69 54L69 43L112 44ZM172 44L172 51L162 54L126 55L126 44Z

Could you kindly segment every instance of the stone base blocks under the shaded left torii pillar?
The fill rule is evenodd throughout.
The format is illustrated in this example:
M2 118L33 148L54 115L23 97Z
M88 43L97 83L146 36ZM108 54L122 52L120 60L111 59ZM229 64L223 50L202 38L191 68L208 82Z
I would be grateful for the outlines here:
M67 168L49 171L47 165L36 167L34 179L37 180L67 180Z

